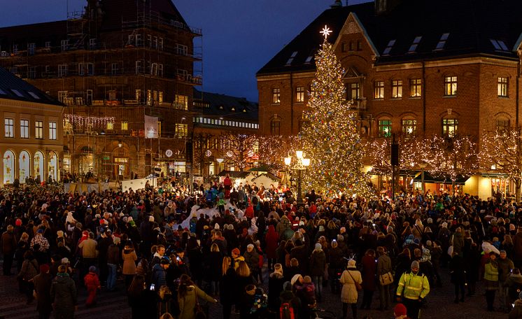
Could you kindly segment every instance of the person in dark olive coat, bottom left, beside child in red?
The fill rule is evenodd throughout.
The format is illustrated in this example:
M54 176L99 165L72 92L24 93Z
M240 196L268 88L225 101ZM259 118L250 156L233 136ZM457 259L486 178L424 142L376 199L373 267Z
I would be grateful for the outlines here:
M58 267L58 274L51 284L52 309L56 319L74 318L74 311L78 310L76 299L76 285L69 274L67 267L62 264Z

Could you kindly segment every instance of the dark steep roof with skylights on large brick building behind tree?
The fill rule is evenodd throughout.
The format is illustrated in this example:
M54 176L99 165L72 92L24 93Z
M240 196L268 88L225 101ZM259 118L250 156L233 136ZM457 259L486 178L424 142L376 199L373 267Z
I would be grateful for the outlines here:
M313 59L309 63L306 59L323 42L320 29L327 24L333 31L329 41L335 41L350 13L356 15L379 52L376 64L465 55L515 59L514 45L522 33L520 0L403 0L390 12L379 15L375 14L372 1L325 10L265 64L258 75L315 70ZM449 34L446 43L442 50L436 50L443 34ZM415 52L409 52L417 36L422 38ZM385 55L391 40L395 44ZM297 54L288 64L293 52Z

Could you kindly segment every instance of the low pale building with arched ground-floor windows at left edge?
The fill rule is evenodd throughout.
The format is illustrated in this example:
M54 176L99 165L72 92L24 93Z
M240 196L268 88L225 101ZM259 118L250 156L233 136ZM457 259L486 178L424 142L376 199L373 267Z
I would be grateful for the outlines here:
M0 68L0 185L59 180L64 106Z

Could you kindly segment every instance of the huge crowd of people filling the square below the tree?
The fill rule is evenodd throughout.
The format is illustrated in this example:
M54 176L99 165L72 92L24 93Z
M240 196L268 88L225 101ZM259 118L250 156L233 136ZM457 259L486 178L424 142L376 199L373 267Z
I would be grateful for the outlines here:
M374 307L416 319L447 267L453 302L484 290L484 311L522 318L522 206L512 201L311 191L297 205L290 190L229 177L187 189L4 189L3 275L39 318L73 318L79 286L93 307L122 279L132 318L204 318L220 303L225 319L309 319L328 289L342 304L334 316Z

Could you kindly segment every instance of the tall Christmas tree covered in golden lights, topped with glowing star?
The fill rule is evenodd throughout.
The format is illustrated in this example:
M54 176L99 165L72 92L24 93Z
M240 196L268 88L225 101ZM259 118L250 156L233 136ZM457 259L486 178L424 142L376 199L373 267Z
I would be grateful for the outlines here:
M310 189L334 197L373 194L369 176L363 171L364 146L358 130L356 113L346 101L343 69L335 57L332 45L325 36L316 55L316 78L311 83L308 109L304 112L306 124L301 136L306 157L311 159L304 174Z

